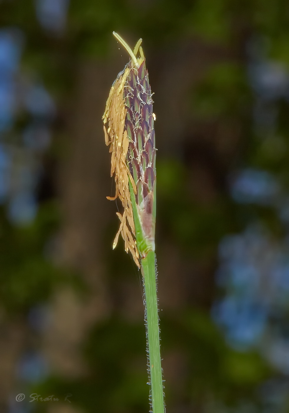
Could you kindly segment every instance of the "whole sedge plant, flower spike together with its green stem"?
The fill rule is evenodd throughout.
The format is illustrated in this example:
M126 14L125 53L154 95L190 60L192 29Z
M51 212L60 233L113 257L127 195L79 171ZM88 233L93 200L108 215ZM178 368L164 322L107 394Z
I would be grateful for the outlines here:
M145 57L138 40L134 50L115 32L114 36L130 55L114 81L103 115L105 143L111 152L111 176L116 194L108 199L121 200L123 214L117 212L118 237L125 251L141 268L144 285L145 319L150 402L153 413L164 413L163 378L159 342L159 315L156 295L155 223L156 223L156 147L155 115Z

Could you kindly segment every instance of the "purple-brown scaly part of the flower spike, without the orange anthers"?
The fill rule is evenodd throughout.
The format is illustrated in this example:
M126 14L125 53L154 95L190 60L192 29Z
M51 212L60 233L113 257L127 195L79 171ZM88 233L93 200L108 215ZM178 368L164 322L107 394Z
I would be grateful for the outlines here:
M124 129L129 138L126 161L137 189L135 200L144 237L151 244L154 243L155 228L153 207L156 148L153 100L145 60L139 68L129 71L124 97L127 110Z

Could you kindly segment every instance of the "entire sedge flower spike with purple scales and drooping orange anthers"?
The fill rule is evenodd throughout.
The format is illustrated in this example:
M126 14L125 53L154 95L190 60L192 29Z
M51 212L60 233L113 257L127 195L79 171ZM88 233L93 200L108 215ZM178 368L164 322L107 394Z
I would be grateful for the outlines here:
M111 176L115 173L116 195L124 207L118 214L121 225L113 247L121 233L125 250L130 250L135 263L154 250L156 148L155 115L152 112L152 92L145 59L140 47L134 51L114 33L126 47L132 59L118 75L107 100L103 120L104 134L111 152ZM140 51L140 57L136 57ZM129 185L133 191L130 192ZM132 198L133 196L133 198Z

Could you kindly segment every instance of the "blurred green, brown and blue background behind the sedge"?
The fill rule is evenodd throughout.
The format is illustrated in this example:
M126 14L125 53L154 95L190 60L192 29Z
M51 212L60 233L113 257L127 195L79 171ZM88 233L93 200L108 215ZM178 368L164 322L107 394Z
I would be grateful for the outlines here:
M141 275L106 199L113 30L143 38L155 93L167 411L287 413L285 0L0 1L0 411L149 410Z

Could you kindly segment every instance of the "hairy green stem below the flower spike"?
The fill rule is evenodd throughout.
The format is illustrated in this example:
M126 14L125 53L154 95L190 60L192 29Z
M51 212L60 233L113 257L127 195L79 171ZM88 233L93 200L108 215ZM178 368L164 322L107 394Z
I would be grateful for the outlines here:
M154 251L149 251L147 256L142 259L142 276L144 278L144 294L147 314L147 341L150 382L152 388L152 411L153 413L164 413Z

